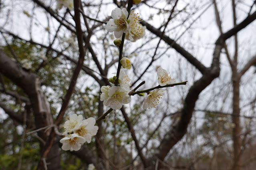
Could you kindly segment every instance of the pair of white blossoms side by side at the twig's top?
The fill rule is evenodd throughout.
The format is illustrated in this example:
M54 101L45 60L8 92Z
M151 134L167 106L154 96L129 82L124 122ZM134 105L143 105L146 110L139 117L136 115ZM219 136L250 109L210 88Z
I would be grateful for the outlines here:
M120 8L115 8L111 12L111 17L113 20L107 22L106 29L109 32L114 32L115 38L121 38L123 33L128 40L135 42L136 40L145 36L146 27L140 24L141 19L138 13L131 11L129 15L126 8L122 10ZM128 19L127 19L128 18Z

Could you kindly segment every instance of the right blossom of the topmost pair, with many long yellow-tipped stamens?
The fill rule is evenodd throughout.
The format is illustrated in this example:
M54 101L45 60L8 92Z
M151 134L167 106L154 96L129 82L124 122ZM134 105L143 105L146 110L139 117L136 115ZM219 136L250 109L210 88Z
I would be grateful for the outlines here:
M141 19L139 18L138 13L136 14L134 11L131 11L128 21L128 31L127 34L125 34L127 39L135 42L145 36L146 26L140 24Z

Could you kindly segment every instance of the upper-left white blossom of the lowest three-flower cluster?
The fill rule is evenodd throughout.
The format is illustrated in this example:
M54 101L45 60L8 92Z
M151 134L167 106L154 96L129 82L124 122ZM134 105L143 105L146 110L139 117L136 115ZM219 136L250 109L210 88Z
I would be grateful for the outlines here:
M77 114L73 114L69 117L69 120L67 120L64 124L65 128L65 134L68 134L69 132L73 132L75 130L79 129L79 126L81 122L83 121L83 116Z

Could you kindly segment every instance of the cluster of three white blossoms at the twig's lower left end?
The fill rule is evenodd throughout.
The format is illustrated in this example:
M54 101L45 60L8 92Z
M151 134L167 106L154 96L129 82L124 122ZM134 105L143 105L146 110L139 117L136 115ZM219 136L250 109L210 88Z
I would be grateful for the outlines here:
M87 142L90 143L92 136L95 136L99 127L95 126L96 120L93 117L83 120L82 115L73 114L64 124L64 138L60 139L63 150L77 151Z

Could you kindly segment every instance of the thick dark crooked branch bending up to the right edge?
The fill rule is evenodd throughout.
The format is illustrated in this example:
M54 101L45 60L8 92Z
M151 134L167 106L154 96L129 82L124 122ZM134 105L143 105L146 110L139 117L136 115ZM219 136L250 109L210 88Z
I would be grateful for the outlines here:
M157 148L158 152L155 154L157 158L163 160L169 150L184 136L187 131L187 126L191 119L192 113L199 94L220 74L220 53L226 39L235 35L237 32L245 28L248 24L256 19L256 12L251 16L248 16L240 24L222 34L216 41L216 47L214 49L212 65L209 69L203 71L202 77L194 83L187 93L185 103L181 111L180 121L174 125L164 136ZM195 62L195 60L193 60ZM199 62L199 61L198 61ZM200 65L198 65L200 66ZM153 157L154 158L154 157ZM155 164L155 160L151 161L151 166Z

